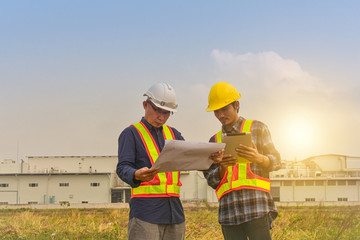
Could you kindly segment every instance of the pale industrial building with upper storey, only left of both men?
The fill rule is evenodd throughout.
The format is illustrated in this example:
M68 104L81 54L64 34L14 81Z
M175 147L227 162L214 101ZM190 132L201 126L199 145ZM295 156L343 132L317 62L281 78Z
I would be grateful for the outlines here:
M0 204L109 203L114 157L28 157L0 164ZM93 169L94 168L94 169ZM114 181L115 180L115 181Z

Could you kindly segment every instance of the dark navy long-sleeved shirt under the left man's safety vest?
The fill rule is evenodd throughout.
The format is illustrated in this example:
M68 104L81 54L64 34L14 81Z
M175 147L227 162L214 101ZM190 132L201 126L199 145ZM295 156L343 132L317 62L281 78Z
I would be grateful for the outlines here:
M149 129L161 152L165 145L162 127L156 129L144 118L141 119L141 122ZM184 140L179 131L175 128L171 129L174 132L175 139ZM134 126L129 126L124 129L120 134L118 143L119 161L116 173L121 180L129 184L132 188L136 188L140 186L141 181L134 179L135 171L143 167L151 168L151 162L145 146ZM183 207L178 197L136 197L131 198L129 204L129 219L136 217L154 224L176 224L185 221Z

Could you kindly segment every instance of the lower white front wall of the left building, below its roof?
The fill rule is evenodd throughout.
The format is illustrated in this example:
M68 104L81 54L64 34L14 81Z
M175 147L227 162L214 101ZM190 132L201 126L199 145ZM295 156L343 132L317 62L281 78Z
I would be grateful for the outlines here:
M0 188L3 204L111 202L110 174L13 174L1 176L0 183L8 185Z

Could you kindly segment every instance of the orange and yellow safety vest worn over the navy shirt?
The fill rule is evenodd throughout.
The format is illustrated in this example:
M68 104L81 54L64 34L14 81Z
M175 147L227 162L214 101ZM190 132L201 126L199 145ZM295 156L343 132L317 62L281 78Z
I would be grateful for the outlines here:
M135 123L133 126L139 132L144 143L146 152L149 156L151 165L159 157L160 151L153 136L142 122ZM175 139L172 129L163 125L164 139ZM180 197L180 172L158 173L153 180L142 182L139 187L131 188L131 198L134 197Z

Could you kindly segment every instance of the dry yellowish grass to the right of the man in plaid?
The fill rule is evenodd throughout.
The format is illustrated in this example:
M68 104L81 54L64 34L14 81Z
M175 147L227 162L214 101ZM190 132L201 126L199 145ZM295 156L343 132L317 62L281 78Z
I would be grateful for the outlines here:
M273 239L360 239L360 206L280 207Z

